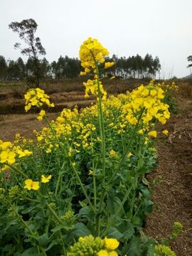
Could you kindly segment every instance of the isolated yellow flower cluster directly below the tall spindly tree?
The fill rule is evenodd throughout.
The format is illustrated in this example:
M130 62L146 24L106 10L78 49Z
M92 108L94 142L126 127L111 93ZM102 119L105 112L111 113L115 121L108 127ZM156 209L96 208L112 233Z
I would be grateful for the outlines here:
M42 107L43 104L48 107L54 107L53 103L50 103L49 96L40 88L33 88L28 90L25 95L26 107L25 110L31 110L31 107Z

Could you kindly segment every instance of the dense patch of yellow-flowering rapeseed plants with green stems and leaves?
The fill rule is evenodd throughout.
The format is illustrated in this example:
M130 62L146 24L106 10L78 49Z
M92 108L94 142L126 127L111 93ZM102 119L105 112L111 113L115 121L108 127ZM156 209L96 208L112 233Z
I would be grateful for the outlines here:
M156 162L154 124L166 123L169 105L154 81L107 96L102 73L114 65L107 55L95 38L80 46L80 75L92 77L84 83L85 97L95 95L97 104L65 109L49 121L43 107L53 103L40 88L31 89L26 112L38 107L37 119L48 126L35 132L35 143L19 134L13 144L0 141L0 224L4 241L19 240L22 253L117 256L126 255L134 241L143 243L138 234L152 206L144 176ZM12 227L6 228L11 221L19 227L16 238ZM142 245L147 253L148 245ZM136 250L139 255L139 246Z

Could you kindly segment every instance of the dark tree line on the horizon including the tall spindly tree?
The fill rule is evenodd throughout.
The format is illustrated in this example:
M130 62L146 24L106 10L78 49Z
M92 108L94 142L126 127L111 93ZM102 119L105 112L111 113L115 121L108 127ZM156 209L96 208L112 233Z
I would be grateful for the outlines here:
M41 44L39 37L35 36L38 24L33 18L21 22L11 22L9 28L18 33L24 43L15 43L14 48L21 50L22 55L28 56L26 63L22 58L18 60L6 60L0 55L0 80L26 80L39 86L39 82L46 78L63 80L65 78L78 78L81 71L80 60L61 56L57 61L49 63L44 57L46 50ZM156 78L161 69L159 58L152 58L147 53L144 58L137 54L129 58L112 55L108 58L115 65L107 70L109 76L120 78Z

